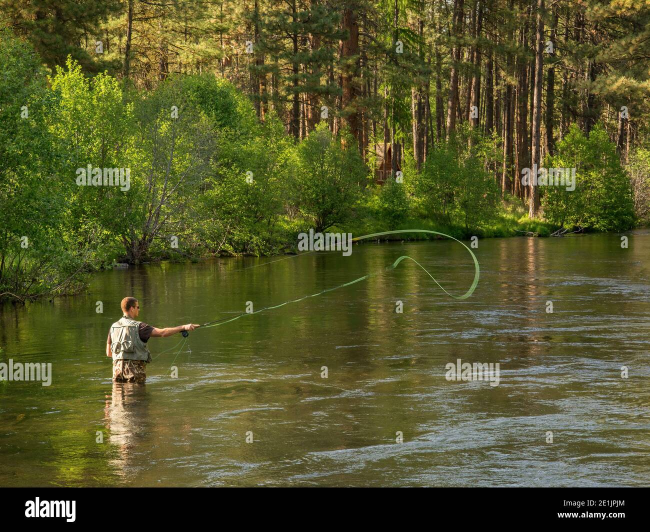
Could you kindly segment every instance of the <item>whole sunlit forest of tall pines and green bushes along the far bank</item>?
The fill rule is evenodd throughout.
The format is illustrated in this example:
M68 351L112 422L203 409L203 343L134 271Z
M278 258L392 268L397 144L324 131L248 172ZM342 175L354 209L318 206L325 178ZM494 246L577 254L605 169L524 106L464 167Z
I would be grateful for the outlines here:
M648 0L0 0L0 301L309 229L629 230L649 73Z

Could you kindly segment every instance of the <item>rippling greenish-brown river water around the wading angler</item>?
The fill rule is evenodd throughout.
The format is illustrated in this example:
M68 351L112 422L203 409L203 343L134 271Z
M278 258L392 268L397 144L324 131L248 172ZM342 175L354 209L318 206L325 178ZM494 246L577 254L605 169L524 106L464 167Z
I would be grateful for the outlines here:
M471 256L439 240L116 269L82 296L5 304L0 362L51 362L52 381L0 382L0 486L650 485L650 232L474 253L466 300L411 261L385 271L408 255L464 293ZM174 326L367 273L152 338L146 384L111 382L126 295ZM447 380L458 359L499 363L499 385Z

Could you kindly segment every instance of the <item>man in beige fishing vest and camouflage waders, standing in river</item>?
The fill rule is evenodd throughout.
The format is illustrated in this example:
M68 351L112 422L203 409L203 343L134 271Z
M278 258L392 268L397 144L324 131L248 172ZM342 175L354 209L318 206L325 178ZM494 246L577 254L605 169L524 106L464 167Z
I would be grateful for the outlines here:
M115 382L144 382L147 379L146 365L151 362L147 342L151 336L165 338L184 330L198 327L193 323L159 329L142 321L136 321L140 304L135 297L122 300L122 319L110 326L106 340L106 356L113 358L113 380Z

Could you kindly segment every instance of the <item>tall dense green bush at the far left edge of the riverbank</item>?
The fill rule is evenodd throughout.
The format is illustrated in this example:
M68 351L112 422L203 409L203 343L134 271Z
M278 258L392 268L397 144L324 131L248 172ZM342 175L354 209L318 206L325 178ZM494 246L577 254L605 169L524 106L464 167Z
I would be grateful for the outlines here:
M6 32L0 72L0 293L59 293L85 256L68 239L70 183L45 118L55 102L34 52Z

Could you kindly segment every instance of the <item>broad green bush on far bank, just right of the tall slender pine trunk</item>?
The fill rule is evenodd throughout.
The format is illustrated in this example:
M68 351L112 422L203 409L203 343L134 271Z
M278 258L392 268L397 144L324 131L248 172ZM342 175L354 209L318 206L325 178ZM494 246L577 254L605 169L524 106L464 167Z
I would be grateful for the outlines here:
M543 187L545 217L565 228L621 231L634 225L634 203L616 145L597 124L589 135L571 126L558 142L549 168L575 168L575 190ZM570 187L569 187L570 188Z

